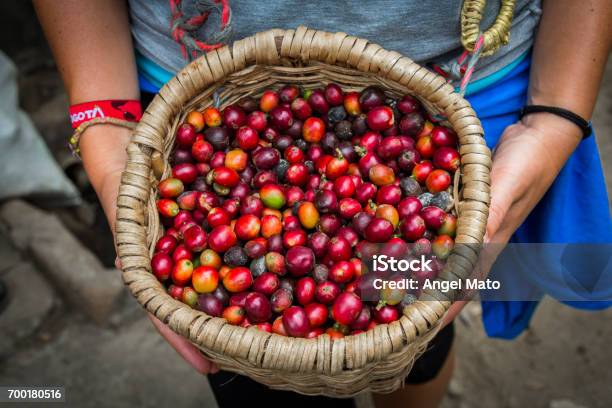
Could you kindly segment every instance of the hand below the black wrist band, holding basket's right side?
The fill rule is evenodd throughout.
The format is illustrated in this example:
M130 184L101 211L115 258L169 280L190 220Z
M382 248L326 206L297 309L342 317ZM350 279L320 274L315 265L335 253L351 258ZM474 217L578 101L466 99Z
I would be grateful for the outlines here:
M580 141L572 123L549 114L535 114L509 126L493 152L491 204L485 234L486 257L476 274L483 279L514 231L523 223L552 185ZM451 322L467 301L455 302L445 323Z

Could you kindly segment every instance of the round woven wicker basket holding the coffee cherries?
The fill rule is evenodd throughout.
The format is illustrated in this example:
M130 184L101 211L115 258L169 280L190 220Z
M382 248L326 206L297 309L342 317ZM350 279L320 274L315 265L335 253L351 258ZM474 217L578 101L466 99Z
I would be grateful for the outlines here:
M391 392L403 384L416 357L439 329L452 294L427 291L400 320L362 334L331 340L283 337L228 324L174 300L150 272L161 236L155 206L158 181L170 174L177 126L187 112L222 107L245 95L293 83L345 90L379 85L390 95L418 97L448 118L459 135L462 197L456 247L438 279L465 279L485 232L490 151L469 103L446 81L397 52L345 33L299 27L270 30L207 53L187 65L155 97L134 131L118 198L116 240L123 278L138 302L189 339L221 369L244 374L275 389L347 397L362 391Z

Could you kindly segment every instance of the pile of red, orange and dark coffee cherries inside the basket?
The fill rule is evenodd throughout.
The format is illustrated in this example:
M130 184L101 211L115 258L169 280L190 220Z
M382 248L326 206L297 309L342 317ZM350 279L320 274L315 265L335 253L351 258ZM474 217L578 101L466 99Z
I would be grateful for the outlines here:
M175 136L151 268L211 316L294 337L360 333L414 299L362 299L367 257L439 266L452 250L457 136L410 95L287 85L192 111Z

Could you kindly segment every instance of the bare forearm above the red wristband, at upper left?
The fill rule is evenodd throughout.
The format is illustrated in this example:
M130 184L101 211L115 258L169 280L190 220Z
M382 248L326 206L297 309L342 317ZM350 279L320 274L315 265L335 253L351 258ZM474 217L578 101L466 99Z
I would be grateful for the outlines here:
M34 0L71 103L136 99L125 0Z

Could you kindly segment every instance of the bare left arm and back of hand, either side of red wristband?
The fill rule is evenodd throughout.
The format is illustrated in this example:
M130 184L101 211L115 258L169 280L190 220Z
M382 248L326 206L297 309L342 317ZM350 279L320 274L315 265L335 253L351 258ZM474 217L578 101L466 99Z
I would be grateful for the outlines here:
M35 0L71 104L138 99L134 49L125 0ZM109 219L129 141L127 129L89 128L81 137L85 170Z

